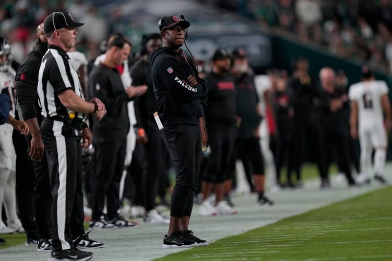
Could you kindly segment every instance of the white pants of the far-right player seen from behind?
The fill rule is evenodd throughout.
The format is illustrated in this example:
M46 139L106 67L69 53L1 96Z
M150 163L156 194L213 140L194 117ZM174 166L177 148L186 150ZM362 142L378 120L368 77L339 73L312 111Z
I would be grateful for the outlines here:
M361 169L365 177L373 174L383 175L386 149L388 147L387 133L382 122L367 124L359 128L359 142L361 145ZM374 153L374 168L371 167L371 154Z

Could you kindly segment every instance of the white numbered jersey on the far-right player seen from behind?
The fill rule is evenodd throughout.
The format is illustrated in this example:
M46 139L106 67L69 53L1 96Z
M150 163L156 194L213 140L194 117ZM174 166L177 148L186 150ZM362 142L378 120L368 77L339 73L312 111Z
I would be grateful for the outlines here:
M351 85L348 97L358 104L360 128L384 121L381 97L388 92L385 81L359 82Z

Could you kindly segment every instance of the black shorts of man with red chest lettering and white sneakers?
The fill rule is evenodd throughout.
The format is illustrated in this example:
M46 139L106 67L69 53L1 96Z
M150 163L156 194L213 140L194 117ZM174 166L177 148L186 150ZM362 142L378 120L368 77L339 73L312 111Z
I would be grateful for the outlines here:
M237 130L234 127L210 126L208 141L211 154L208 157L207 173L204 180L208 183L223 183L230 169Z

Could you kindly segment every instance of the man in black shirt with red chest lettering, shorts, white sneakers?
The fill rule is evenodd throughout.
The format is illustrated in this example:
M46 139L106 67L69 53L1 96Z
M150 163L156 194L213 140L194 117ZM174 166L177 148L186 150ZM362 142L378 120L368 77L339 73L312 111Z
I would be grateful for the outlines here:
M230 68L231 61L227 50L217 49L212 57L212 71L205 78L210 84L208 102L212 104L205 107L204 117L211 154L208 157L207 174L201 186L203 202L199 208L200 215L236 214L223 200L229 162L237 136L234 75ZM215 208L207 200L213 186L216 194Z

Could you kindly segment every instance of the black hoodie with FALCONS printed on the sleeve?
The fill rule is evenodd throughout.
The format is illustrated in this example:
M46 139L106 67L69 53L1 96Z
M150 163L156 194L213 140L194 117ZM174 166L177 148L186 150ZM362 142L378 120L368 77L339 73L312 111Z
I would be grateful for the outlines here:
M163 126L198 124L202 117L200 99L205 99L208 84L197 78L195 67L182 49L175 52L168 47L156 48L148 57L159 118ZM188 76L197 84L192 86Z

